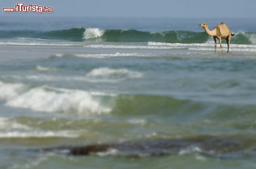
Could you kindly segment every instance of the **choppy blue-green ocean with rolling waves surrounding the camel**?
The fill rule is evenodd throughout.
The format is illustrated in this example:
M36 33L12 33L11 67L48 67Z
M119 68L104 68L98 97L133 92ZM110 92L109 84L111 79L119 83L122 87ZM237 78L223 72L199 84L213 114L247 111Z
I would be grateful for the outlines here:
M0 168L256 168L255 65L254 19L1 17Z

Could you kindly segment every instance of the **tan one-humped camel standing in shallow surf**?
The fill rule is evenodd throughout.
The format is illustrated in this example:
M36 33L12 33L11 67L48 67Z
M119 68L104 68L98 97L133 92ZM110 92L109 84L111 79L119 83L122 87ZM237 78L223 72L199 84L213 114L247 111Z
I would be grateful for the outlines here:
M199 26L203 27L204 31L206 31L206 33L209 36L213 36L213 40L215 42L215 51L214 52L216 52L216 48L217 48L217 41L216 41L217 38L220 42L220 48L222 49L222 52L223 52L223 48L222 48L221 40L222 39L226 40L226 42L228 44L228 52L229 52L230 39L231 39L231 36L234 36L234 34L231 34L231 30L229 29L229 27L226 26L226 24L224 22L222 22L219 25L216 25L216 27L214 27L213 30L209 30L207 23L201 23Z

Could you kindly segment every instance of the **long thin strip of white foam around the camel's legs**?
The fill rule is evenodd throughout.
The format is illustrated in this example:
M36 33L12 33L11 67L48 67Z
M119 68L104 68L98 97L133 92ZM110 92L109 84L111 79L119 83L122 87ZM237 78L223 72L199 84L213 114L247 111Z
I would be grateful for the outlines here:
M252 43L256 43L256 36L254 34L250 35L249 40ZM209 40L206 43L163 43L163 42L148 42L145 45L85 45L85 43L44 43L44 42L0 42L0 45L27 45L27 46L81 46L86 48L110 48L110 49L188 49L188 50L213 50L214 43L213 40ZM219 44L218 48L219 48ZM223 47L227 47L225 43L222 44ZM204 47L204 48L202 48ZM205 48L208 47L208 48ZM211 47L211 48L210 48ZM241 51L241 52L256 52L256 45L245 45L245 44L230 44L230 51ZM55 56L61 57L62 54L57 54ZM115 56L115 54L76 54L78 57L106 57ZM118 56L118 55L116 55ZM125 56L119 55L119 56Z

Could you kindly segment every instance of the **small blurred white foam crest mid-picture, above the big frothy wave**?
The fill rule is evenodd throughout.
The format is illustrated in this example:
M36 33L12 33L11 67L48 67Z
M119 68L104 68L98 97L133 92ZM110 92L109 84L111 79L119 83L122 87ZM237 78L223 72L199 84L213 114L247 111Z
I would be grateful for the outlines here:
M127 69L110 69L110 68L97 68L90 71L87 77L97 78L140 78L143 73L138 71L131 71Z

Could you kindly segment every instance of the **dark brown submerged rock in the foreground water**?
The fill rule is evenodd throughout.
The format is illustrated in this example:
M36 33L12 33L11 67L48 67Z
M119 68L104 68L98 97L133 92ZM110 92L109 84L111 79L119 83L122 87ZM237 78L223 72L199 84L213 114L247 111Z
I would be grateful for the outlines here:
M209 157L229 158L256 155L256 139L220 138L199 136L186 139L163 139L149 141L122 142L116 144L92 144L87 146L67 146L40 149L41 152L64 153L72 156L87 156L115 149L117 155L125 157L148 157L178 154L193 147L197 153Z

